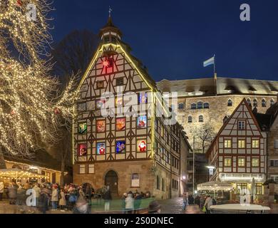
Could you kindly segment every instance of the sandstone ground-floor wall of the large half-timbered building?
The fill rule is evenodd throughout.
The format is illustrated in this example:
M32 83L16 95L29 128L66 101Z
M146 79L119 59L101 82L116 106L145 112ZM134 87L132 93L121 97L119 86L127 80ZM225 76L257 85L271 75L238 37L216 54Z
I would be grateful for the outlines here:
M88 167L88 165L86 165ZM86 172L88 168L86 167ZM113 170L118 175L118 197L125 192L150 192L150 194L157 199L169 199L170 191L172 190L172 197L178 197L180 190L173 190L171 187L172 179L179 182L177 175L170 175L168 170L157 165L155 173L152 170L153 161L136 161L136 162L98 162L95 163L94 174L79 174L79 165L73 165L73 183L82 185L89 183L94 190L101 189L105 185L105 175L108 171ZM131 175L140 175L140 187L131 187ZM159 189L157 188L157 176L159 177ZM164 190L163 190L164 180ZM179 185L180 187L180 182Z

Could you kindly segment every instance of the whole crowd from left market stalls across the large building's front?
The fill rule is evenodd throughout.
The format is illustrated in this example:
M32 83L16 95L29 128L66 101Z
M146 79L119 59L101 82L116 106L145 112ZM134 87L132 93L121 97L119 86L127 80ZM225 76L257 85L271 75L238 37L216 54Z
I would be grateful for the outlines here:
M6 191L5 191L6 190ZM95 190L91 185L65 185L61 186L58 183L43 183L26 182L22 185L21 182L11 182L4 187L4 183L0 182L0 200L6 192L6 197L9 199L9 204L26 205L27 190L32 190L35 198L32 203L33 207L41 210L46 214L48 210L61 212L72 211L74 214L90 214L91 213L91 200L94 195L104 200L105 212L110 211L110 202L112 195L110 186L104 186L95 194ZM150 198L150 192L133 192L124 193L121 198L122 212L126 214L138 213L141 209L142 199ZM157 202L151 202L149 205L150 213L160 212L160 206Z

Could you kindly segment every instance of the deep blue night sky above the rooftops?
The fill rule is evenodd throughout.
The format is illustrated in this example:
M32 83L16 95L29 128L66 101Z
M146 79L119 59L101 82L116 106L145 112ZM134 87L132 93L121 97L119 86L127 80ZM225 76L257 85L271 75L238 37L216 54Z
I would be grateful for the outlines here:
M240 5L251 21L240 21ZM155 81L211 77L202 62L217 55L218 76L278 80L277 0L54 0L55 42L73 29L98 33L113 8L123 41Z

